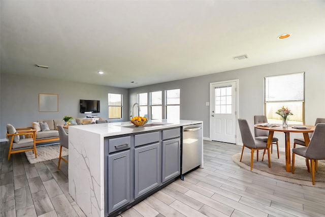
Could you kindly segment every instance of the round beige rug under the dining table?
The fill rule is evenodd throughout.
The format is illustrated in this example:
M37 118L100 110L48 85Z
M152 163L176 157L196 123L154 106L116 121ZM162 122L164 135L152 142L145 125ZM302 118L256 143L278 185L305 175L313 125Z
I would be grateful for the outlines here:
M261 174L267 177L276 178L291 183L315 186L325 188L325 163L318 162L318 171L315 172L315 185L312 184L311 173L308 173L305 158L298 155L295 157L295 173L285 171L285 155L280 154L280 159L277 158L276 153L271 154L271 168L268 164L267 154L262 162L262 153L259 151L258 162L256 161L256 152L254 154L253 170L252 172ZM262 152L262 153L261 153ZM240 167L250 170L250 153L243 154L242 162L239 162L241 153L236 153L233 156L233 161ZM291 156L292 157L292 156ZM292 164L292 159L291 159ZM292 165L291 165L292 166Z

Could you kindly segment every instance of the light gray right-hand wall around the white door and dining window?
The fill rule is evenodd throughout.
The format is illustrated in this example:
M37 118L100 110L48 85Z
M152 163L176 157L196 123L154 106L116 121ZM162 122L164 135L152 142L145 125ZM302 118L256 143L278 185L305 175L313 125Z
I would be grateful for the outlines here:
M242 60L245 61L245 60ZM129 105L137 101L137 94L165 89L181 89L181 119L204 121L204 137L210 138L209 84L239 79L239 118L247 119L253 131L253 116L264 114L264 77L305 72L305 121L314 125L317 117L325 117L325 54L281 61L228 72L159 83L129 89ZM283 134L283 133L282 133ZM276 135L280 139L281 135ZM240 136L240 134L237 134ZM291 136L291 138L297 135ZM301 135L299 135L301 137ZM240 139L241 141L241 139Z

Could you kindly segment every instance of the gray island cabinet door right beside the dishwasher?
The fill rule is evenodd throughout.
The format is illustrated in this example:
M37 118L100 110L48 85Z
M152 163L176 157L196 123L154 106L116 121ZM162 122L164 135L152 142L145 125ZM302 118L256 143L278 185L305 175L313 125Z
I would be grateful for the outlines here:
M163 141L163 162L161 181L165 182L176 177L181 171L181 140L180 138Z

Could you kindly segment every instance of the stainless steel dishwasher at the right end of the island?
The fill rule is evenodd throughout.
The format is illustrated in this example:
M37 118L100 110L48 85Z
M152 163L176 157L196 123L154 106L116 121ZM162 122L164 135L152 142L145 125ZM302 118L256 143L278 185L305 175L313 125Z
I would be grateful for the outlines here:
M203 135L202 124L183 127L181 179L184 174L202 164Z

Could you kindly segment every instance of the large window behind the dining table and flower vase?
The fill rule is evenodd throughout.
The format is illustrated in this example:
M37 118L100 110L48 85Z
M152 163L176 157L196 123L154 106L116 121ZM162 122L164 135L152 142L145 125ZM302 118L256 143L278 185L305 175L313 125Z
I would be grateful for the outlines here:
M265 114L270 123L282 123L276 114L282 106L294 115L288 116L288 124L305 123L305 73L265 77Z

